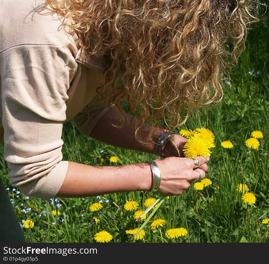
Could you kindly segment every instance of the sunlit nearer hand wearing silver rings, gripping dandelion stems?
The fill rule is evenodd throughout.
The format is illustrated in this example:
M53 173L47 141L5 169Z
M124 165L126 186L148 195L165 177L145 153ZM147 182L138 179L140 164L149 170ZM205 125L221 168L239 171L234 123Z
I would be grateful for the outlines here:
M171 196L182 194L198 178L197 171L201 173L201 179L204 179L208 170L206 162L209 161L210 157L199 156L195 158L199 160L197 168L195 168L191 158L167 157L154 160L161 175L161 183L157 193Z

